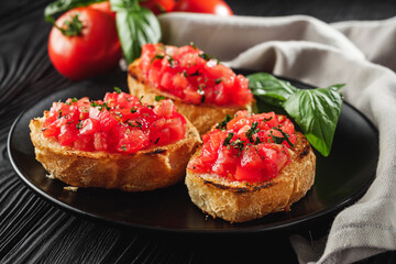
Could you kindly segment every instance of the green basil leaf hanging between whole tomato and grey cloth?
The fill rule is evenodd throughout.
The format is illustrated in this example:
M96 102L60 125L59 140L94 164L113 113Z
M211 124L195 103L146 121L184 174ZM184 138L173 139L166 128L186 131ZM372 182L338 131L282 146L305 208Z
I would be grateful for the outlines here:
M140 57L142 45L146 43L157 43L161 40L161 26L157 18L146 8L136 9L133 4L130 9L124 9L120 0L112 0L111 4L117 10L117 29L122 46L122 51L128 63L132 63Z

